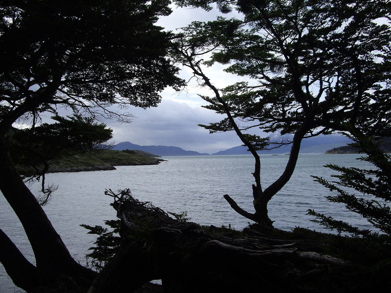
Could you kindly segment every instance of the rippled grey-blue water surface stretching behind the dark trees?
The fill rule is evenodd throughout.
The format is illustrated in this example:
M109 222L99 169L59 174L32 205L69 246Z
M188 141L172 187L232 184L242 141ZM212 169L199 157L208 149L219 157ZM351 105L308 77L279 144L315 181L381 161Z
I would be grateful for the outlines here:
M326 188L313 181L310 175L330 178L335 172L323 165L328 163L348 167L369 167L368 163L355 160L359 155L302 154L289 183L269 203L269 217L283 230L296 226L322 230L307 209L315 209L359 227L369 227L366 220L344 209L343 205L328 203ZM103 225L104 220L114 219L115 211L105 196L105 188L112 190L130 188L133 196L166 211L187 211L191 221L204 225L229 224L235 229L248 225L247 219L230 208L223 195L229 194L238 205L253 212L252 191L254 159L251 155L238 156L186 156L165 157L167 162L154 166L119 166L117 170L53 173L46 176L47 183L58 185L52 200L44 207L54 228L62 236L73 257L86 263L87 249L95 240L94 235L80 224ZM262 155L261 177L265 188L282 173L286 155ZM30 189L39 193L39 185ZM14 241L24 255L34 262L34 257L21 224L0 194L1 229ZM326 230L325 230L326 231ZM22 292L16 288L0 264L0 292Z

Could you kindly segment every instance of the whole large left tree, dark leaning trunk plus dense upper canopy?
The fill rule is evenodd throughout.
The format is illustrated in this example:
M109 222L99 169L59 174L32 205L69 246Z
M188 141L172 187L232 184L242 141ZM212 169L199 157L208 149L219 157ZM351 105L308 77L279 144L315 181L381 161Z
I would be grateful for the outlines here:
M18 121L59 106L126 121L110 105L156 106L180 86L167 53L171 34L154 23L168 0L2 1L0 6L0 190L19 217L36 258L28 262L0 230L0 261L28 292L87 291L96 273L73 260L15 169L7 134ZM60 286L59 284L62 285Z

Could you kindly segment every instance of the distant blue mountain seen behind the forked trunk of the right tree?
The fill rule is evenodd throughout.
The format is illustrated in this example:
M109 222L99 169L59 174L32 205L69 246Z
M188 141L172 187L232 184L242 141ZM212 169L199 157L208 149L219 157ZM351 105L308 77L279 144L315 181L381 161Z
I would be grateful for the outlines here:
M348 143L351 143L351 141L343 135L338 135L338 134L319 135L319 136L304 139L302 142L300 152L301 153L325 153L330 148L346 145ZM290 148L291 145L286 145L271 150L261 150L258 151L258 153L286 154L290 152ZM226 150L220 150L212 155L248 155L248 154L250 154L250 152L247 151L246 146L235 146L235 147L228 148Z

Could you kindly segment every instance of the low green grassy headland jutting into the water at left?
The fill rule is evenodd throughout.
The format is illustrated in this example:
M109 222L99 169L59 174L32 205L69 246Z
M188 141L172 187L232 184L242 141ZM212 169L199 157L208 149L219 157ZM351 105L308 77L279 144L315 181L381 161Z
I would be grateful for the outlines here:
M48 161L47 173L82 172L115 170L114 166L157 165L165 161L159 156L139 150L100 149L91 153L65 152L61 156ZM43 166L38 166L43 167ZM34 173L31 166L17 166L20 174L28 176Z

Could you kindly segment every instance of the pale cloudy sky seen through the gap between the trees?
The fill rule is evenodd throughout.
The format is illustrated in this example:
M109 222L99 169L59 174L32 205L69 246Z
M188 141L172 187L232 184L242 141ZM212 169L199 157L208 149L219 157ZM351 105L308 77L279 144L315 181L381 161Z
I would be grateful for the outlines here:
M217 10L206 12L202 9L175 8L168 17L161 18L157 25L166 30L175 31L191 21L215 20L220 13ZM225 15L227 16L227 15ZM228 17L238 16L236 12ZM182 67L180 67L182 68ZM237 82L235 76L225 73L222 65L208 68L206 71L212 83L223 87ZM180 77L188 80L190 70L184 68ZM112 141L116 144L129 141L137 145L179 146L186 150L201 153L214 153L233 146L242 145L234 132L209 134L209 130L198 124L209 124L224 118L222 115L202 108L205 105L198 94L211 95L205 87L190 83L180 92L166 88L162 93L162 102L157 107L141 109L131 107L129 112L135 116L130 124L118 124L105 121L113 129Z

